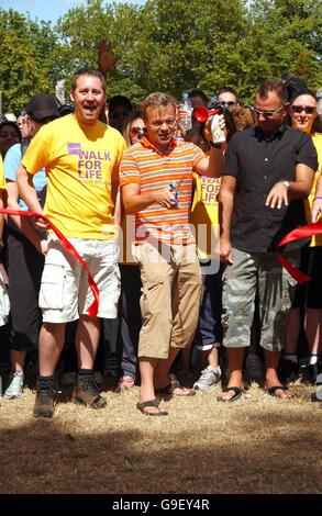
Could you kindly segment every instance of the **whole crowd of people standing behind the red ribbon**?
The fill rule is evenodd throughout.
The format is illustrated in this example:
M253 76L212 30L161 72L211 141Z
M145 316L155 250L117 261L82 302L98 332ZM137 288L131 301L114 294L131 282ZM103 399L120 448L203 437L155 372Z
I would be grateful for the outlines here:
M235 402L257 381L291 400L300 374L322 383L322 237L278 249L322 213L315 93L289 76L254 105L195 88L187 130L168 93L108 101L106 71L77 71L68 109L40 92L0 121L4 397L23 395L30 363L45 418L66 385L103 408L104 389L140 384L142 414L166 416L164 396L221 385L216 400Z

